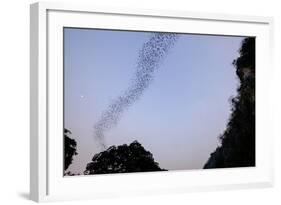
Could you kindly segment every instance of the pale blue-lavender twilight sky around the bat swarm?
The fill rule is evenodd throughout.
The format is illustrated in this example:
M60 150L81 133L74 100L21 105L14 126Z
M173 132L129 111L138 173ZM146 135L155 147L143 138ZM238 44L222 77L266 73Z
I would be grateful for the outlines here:
M64 123L77 142L68 171L83 173L102 151L94 125L125 91L149 32L64 29ZM161 168L201 169L218 145L238 80L243 37L181 34L140 100L105 132L108 146L138 140Z

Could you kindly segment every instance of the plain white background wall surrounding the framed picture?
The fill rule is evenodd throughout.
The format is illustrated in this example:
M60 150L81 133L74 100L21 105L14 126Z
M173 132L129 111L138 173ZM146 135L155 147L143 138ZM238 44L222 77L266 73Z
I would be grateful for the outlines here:
M29 0L0 4L0 203L31 204L29 192ZM80 0L80 2L82 2ZM94 2L92 0L91 2ZM278 0L100 0L101 6L273 16L275 188L145 196L67 204L280 204L281 6ZM279 69L279 70L278 70ZM279 82L278 82L279 81ZM280 88L280 90L278 89ZM278 106L279 105L279 106ZM279 127L278 127L279 126ZM266 136L265 136L266 137Z

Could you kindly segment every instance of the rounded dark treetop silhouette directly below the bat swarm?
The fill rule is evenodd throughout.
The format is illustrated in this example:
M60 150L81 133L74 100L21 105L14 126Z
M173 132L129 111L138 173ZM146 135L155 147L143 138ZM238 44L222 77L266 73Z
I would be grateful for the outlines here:
M84 174L165 171L154 161L153 155L137 141L130 145L111 146L94 155Z

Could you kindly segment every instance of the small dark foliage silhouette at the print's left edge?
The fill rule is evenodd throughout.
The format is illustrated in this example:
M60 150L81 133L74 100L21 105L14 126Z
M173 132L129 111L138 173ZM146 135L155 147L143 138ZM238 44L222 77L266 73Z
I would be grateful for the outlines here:
M69 134L71 134L71 132L68 129L64 129L64 171L67 170L72 163L73 156L78 154L76 152L77 143L68 136Z

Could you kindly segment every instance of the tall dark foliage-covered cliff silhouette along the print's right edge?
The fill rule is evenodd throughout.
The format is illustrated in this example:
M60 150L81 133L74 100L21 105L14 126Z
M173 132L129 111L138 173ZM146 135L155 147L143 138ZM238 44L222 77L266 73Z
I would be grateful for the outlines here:
M240 86L231 100L232 114L221 146L204 168L255 166L255 38L244 39L239 53L233 62Z

